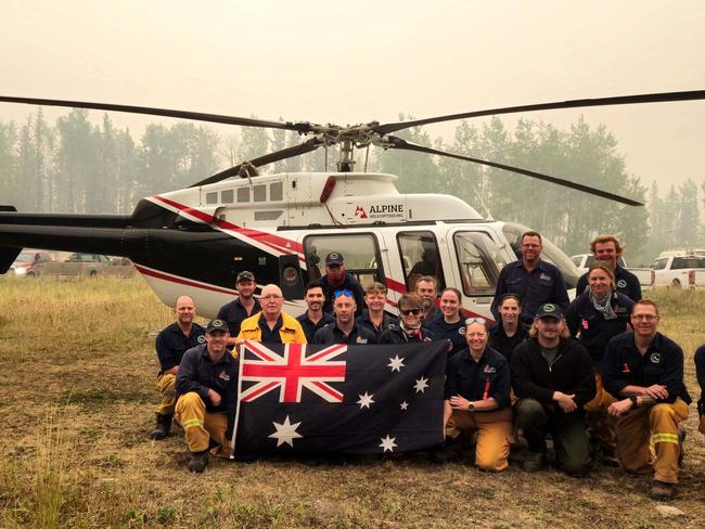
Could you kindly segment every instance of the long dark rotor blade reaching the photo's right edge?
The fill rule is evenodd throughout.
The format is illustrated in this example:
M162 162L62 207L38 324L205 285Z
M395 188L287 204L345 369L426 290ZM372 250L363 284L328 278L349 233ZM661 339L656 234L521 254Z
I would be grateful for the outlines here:
M638 103L667 103L677 101L696 101L705 99L705 90L691 90L683 92L644 93L636 95L618 95L614 98L581 99L560 101L555 103L539 103L535 105L508 106L504 108L490 108L487 111L465 112L450 114L448 116L430 117L425 119L412 119L410 121L398 121L382 125L372 125L372 129L380 134L388 134L411 127L430 125L453 119L469 119L472 117L496 116L500 114L513 114L518 112L552 111L556 108L580 108L588 106L611 106L631 105Z

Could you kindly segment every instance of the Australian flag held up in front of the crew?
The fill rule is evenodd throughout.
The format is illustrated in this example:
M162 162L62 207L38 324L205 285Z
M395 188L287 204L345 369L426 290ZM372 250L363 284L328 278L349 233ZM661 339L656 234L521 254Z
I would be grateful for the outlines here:
M245 341L233 453L374 454L443 442L445 341Z

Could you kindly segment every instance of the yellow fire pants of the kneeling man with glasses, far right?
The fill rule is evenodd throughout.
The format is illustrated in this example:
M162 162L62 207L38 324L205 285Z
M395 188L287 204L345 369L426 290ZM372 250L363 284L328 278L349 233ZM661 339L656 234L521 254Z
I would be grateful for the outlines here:
M636 474L654 470L654 479L678 482L678 423L688 418L688 404L637 408L617 420L617 456L621 465Z

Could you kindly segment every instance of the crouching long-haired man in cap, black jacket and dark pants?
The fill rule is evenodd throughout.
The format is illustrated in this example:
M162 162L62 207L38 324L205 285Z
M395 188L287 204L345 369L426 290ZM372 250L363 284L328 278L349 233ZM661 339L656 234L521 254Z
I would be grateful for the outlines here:
M543 468L550 431L559 468L584 476L591 463L584 407L595 396L594 375L587 349L565 335L561 308L546 304L534 319L530 337L514 349L512 387L520 399L516 426L529 448L524 470Z

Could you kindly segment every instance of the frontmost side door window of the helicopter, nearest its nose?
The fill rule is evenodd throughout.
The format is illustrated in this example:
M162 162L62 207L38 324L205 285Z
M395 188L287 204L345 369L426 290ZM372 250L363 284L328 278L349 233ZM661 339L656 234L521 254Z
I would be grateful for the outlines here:
M495 242L484 232L458 232L453 242L465 296L493 296L504 266Z

